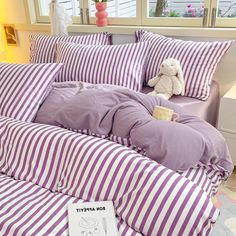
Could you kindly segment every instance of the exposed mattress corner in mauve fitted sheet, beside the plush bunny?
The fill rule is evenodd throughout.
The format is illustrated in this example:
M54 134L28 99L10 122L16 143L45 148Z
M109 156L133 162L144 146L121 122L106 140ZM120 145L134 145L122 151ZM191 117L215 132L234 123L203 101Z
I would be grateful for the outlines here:
M153 90L150 87L143 87L143 93ZM216 127L218 108L219 108L219 85L216 81L211 84L210 96L206 101L191 97L173 96L170 101L184 107L192 115L196 115Z

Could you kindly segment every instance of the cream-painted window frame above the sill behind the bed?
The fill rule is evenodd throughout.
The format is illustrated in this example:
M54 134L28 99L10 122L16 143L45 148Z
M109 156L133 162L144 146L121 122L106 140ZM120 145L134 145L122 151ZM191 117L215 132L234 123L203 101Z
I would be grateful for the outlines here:
M29 5L29 0L25 0ZM40 0L33 0L35 10L35 23L49 23L49 16L40 15ZM72 24L75 25L95 25L96 18L87 16L86 11L89 9L89 0L79 0L80 8L83 9L83 19L80 16L72 17ZM204 8L208 10L206 17L206 25L203 26L202 18L185 18L185 17L149 17L149 0L136 0L136 17L109 17L109 25L124 26L164 26L164 27L193 27L193 28L230 28L236 26L236 18L220 18L213 19L213 8L218 7L219 0L205 0ZM213 23L213 25L212 25ZM215 24L214 24L215 23Z

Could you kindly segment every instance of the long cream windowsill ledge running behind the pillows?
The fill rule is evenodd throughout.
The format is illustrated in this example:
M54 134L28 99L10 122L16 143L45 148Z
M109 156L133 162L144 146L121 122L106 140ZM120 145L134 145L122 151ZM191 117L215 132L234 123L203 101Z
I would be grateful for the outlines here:
M49 24L19 24L16 29L20 31L49 32ZM71 33L97 33L110 32L113 34L133 34L138 29L145 29L166 36L180 37L209 37L236 39L236 28L194 28L194 27L153 27L153 26L122 26L110 25L97 27L96 25L71 25L68 30Z

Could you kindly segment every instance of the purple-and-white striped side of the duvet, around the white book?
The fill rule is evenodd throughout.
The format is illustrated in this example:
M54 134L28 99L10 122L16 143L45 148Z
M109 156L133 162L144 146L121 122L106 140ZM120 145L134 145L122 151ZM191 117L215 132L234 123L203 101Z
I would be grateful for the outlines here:
M0 235L67 235L66 207L82 200L112 200L122 236L209 235L213 169L182 174L203 190L111 141L0 117Z

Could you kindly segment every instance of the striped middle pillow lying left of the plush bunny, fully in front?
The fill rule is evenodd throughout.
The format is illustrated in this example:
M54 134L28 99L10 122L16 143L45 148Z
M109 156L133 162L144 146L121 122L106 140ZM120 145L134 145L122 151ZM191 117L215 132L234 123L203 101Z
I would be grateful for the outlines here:
M112 46L57 44L57 63L64 67L56 81L113 84L141 91L149 43Z

